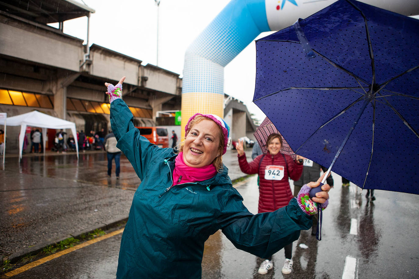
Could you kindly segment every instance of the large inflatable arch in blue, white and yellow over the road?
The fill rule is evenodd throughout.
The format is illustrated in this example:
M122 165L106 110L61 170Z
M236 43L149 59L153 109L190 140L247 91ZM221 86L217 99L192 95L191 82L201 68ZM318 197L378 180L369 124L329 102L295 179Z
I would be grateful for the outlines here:
M197 112L224 116L224 67L256 36L281 30L334 2L336 0L231 0L186 50L182 127ZM419 14L418 0L361 2L403 15Z

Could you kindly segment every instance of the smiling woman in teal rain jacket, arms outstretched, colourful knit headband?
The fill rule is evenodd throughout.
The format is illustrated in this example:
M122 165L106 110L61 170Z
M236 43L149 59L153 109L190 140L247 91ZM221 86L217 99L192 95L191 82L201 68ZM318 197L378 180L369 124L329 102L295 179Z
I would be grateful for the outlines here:
M111 127L117 147L131 162L141 184L122 234L116 278L199 279L204 243L218 230L235 247L264 257L298 239L300 230L310 228L316 202L328 202L327 184L310 199L309 189L319 185L310 182L299 200L292 199L274 212L253 215L222 164L231 142L225 121L196 113L185 126L185 140L178 151L159 148L135 128L134 117L121 99L124 79L116 86L105 83Z

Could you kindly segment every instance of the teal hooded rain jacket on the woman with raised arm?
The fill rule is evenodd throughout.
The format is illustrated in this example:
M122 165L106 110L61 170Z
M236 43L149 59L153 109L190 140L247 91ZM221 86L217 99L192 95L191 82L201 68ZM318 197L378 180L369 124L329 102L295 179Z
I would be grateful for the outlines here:
M125 102L114 100L116 146L141 179L122 234L117 278L201 278L204 242L220 229L238 249L266 258L310 228L311 217L295 199L274 212L250 213L225 166L211 179L171 187L177 154L140 136L132 120Z

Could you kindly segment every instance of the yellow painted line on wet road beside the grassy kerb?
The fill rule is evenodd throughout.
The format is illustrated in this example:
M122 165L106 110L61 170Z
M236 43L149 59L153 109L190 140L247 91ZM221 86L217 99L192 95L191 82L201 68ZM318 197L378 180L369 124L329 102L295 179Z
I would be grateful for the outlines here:
M8 277L15 276L15 275L17 275L19 273L22 273L23 271L27 271L28 269L31 269L31 268L33 268L35 266L39 266L40 264L44 264L47 261L51 261L52 259L58 258L58 257L63 256L65 254L71 253L72 251L76 251L76 250L78 250L80 248L89 246L89 245L91 245L93 243L99 242L99 241L104 240L106 238L110 238L111 236L114 236L114 235L117 235L119 233L122 233L123 231L124 231L124 228L119 229L119 230L115 230L115 231L113 231L111 233L107 233L106 235L99 236L99 237L97 237L95 239L86 241L85 243L82 243L82 244L79 244L79 245L70 247L68 249L59 251L59 252L57 252L55 254L46 256L46 257L44 257L42 259L39 259L39 260L34 261L34 262L31 262L31 263L26 264L24 266L21 266L18 269L15 269L15 270L12 270L12 271L6 273L5 275L8 276Z

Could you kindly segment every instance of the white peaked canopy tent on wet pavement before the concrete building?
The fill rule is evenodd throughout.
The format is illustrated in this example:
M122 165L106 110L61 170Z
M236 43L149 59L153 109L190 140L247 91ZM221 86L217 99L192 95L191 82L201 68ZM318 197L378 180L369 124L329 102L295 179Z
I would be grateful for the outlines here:
M30 113L23 113L6 118L7 126L21 126L21 133L19 135L19 161L22 159L23 139L26 133L26 126L40 127L42 128L42 134L44 139L44 156L45 156L45 141L47 135L47 128L50 129L71 129L71 132L75 139L77 139L76 125L74 122L70 122L61 118L53 117L45 113L40 113L37 110L31 111ZM3 125L5 120L0 120L0 125ZM5 135L6 138L6 135ZM78 145L76 144L76 152L78 158Z

